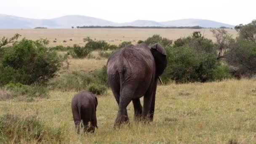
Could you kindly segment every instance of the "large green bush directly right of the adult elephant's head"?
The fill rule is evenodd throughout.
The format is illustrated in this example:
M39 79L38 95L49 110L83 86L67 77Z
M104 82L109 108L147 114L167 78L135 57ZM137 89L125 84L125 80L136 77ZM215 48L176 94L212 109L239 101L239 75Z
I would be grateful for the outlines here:
M198 52L188 46L167 47L167 67L161 75L164 83L206 82L229 78L229 71L222 67L216 56Z

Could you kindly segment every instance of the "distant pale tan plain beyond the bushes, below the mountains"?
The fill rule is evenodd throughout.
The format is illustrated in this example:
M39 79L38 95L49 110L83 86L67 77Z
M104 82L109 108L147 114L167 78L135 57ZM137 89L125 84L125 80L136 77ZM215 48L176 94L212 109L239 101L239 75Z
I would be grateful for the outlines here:
M235 29L226 30L234 36L237 35ZM122 41L130 40L135 40L133 43L137 43L138 40L146 40L154 34L176 40L179 37L191 35L194 31L200 31L205 37L214 40L210 29L0 29L0 37L12 37L15 33L19 33L22 37L31 40L47 38L50 40L49 46L83 45L83 38L91 37L93 40L105 40L118 45ZM57 42L53 43L55 38ZM67 43L63 43L63 40L67 40Z

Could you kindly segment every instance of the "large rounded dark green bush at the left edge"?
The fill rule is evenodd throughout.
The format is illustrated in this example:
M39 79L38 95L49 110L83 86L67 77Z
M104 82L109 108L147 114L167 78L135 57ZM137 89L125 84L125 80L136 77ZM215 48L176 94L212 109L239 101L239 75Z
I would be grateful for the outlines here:
M61 67L62 60L43 42L23 38L8 48L0 61L0 85L45 83Z

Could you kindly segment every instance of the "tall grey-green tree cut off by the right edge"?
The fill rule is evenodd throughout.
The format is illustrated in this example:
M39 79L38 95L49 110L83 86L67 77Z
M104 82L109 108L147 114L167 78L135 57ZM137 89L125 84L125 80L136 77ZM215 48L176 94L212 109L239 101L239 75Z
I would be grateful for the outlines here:
M230 42L227 60L244 75L256 74L256 20L235 29L239 36Z

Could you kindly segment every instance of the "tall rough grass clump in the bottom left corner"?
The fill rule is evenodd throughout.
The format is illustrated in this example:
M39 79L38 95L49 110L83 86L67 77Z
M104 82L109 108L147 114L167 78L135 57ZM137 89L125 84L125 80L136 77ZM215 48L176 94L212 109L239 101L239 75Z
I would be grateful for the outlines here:
M36 115L5 114L0 117L0 143L61 143L64 139L62 131L62 127L46 126Z

